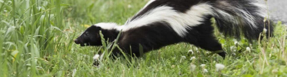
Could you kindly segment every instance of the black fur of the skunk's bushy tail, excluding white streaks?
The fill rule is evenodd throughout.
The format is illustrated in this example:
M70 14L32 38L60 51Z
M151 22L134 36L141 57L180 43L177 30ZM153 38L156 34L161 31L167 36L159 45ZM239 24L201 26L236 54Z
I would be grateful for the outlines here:
M255 26L257 28L254 28L250 26L249 24L246 24L248 21L238 21L241 24L235 24L235 21L229 22L222 18L215 17L217 28L221 33L223 33L225 36L234 36L237 39L240 39L241 33L244 34L246 39L251 42L252 39L258 39L259 34L263 32L263 29L270 29L270 35L273 34L273 21L270 21L270 25L268 24L268 19L266 22L264 22L264 17L259 16L256 14L256 12L262 8L252 5L251 3L258 3L256 0L217 0L217 1L226 1L230 5L236 6L236 7L244 7L244 11L248 12L252 16L254 16ZM242 13L242 10L234 10L232 8L229 8L227 5L218 5L219 3L211 3L214 5L215 8L219 8L225 12L228 12L229 14L236 15L237 13ZM238 19L242 19L240 16L238 16ZM265 26L264 26L265 25ZM269 35L269 31L267 31L267 35Z

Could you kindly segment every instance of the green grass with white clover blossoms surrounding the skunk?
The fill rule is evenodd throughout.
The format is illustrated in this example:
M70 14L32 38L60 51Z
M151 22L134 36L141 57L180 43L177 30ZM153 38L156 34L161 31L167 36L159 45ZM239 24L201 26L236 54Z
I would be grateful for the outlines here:
M148 0L0 0L0 77L51 76L244 76L286 77L286 25L278 22L269 41L218 36L228 57L205 57L208 51L187 43L163 47L144 57L104 59L94 67L92 57L104 47L80 47L73 39L99 22L125 23ZM129 8L128 5L131 7ZM251 51L246 51L250 47ZM194 54L188 53L193 50ZM181 58L186 56L186 59ZM194 60L189 60L196 57ZM225 65L220 72L215 64ZM190 65L196 65L191 71ZM206 64L204 68L201 64ZM203 73L207 69L207 73Z

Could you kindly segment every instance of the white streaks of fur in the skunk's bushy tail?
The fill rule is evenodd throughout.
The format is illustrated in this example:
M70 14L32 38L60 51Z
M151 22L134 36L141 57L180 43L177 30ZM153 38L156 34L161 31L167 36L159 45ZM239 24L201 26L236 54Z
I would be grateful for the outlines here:
M248 12L246 8L243 7L242 5L240 4L236 6L230 5L230 3L226 1L218 1L217 3L218 4L215 6L220 7L220 8L213 8L213 10L215 11L213 15L216 18L220 18L222 20L232 22L236 25L238 25L238 23L245 23L245 24L250 25L252 28L257 28L256 22L255 22L256 18L254 17L254 15L251 15L251 13ZM259 7L257 12L255 13L257 16L261 16L261 17L267 16L266 15L267 10L266 10L265 5L262 5L259 3L249 3L249 4ZM230 15L229 13L221 9L227 9L230 12L235 12L236 15ZM234 21L237 21L237 22L234 22ZM238 22L238 21L243 21L243 22Z

